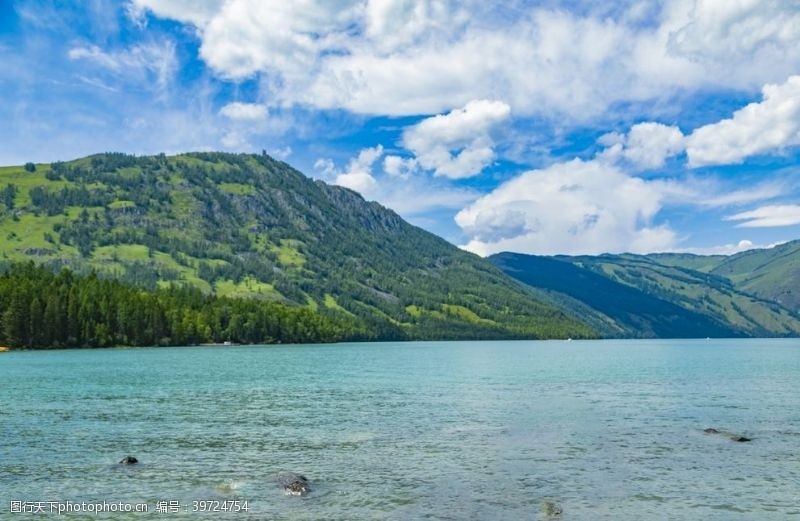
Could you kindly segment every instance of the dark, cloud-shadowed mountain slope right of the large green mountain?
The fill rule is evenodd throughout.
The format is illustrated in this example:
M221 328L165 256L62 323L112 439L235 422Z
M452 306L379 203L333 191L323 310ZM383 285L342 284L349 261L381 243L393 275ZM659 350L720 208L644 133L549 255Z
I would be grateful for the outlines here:
M681 266L710 270L724 258L501 254L491 260L523 282L579 300L627 336L800 333L800 322L778 304L747 294L724 277Z

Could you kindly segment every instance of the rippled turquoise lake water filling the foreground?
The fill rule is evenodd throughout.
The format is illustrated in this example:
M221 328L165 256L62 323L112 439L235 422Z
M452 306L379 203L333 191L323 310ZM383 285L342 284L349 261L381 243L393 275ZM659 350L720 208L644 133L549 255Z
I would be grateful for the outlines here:
M800 519L800 341L12 352L0 440L3 519L206 499L248 501L208 516L241 520Z

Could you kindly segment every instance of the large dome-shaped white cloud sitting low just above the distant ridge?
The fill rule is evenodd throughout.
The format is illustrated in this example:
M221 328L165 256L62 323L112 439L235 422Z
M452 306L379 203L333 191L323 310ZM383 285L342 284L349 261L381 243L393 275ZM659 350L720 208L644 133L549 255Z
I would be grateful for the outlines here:
M673 248L677 235L654 225L662 187L602 161L575 159L525 172L458 213L480 255L649 252Z

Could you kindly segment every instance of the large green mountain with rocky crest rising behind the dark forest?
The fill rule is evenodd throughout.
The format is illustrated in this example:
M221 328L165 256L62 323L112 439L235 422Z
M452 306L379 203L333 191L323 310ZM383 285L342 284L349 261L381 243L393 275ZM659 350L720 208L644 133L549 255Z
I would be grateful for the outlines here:
M276 301L376 339L591 337L485 259L266 155L0 168L0 262Z

